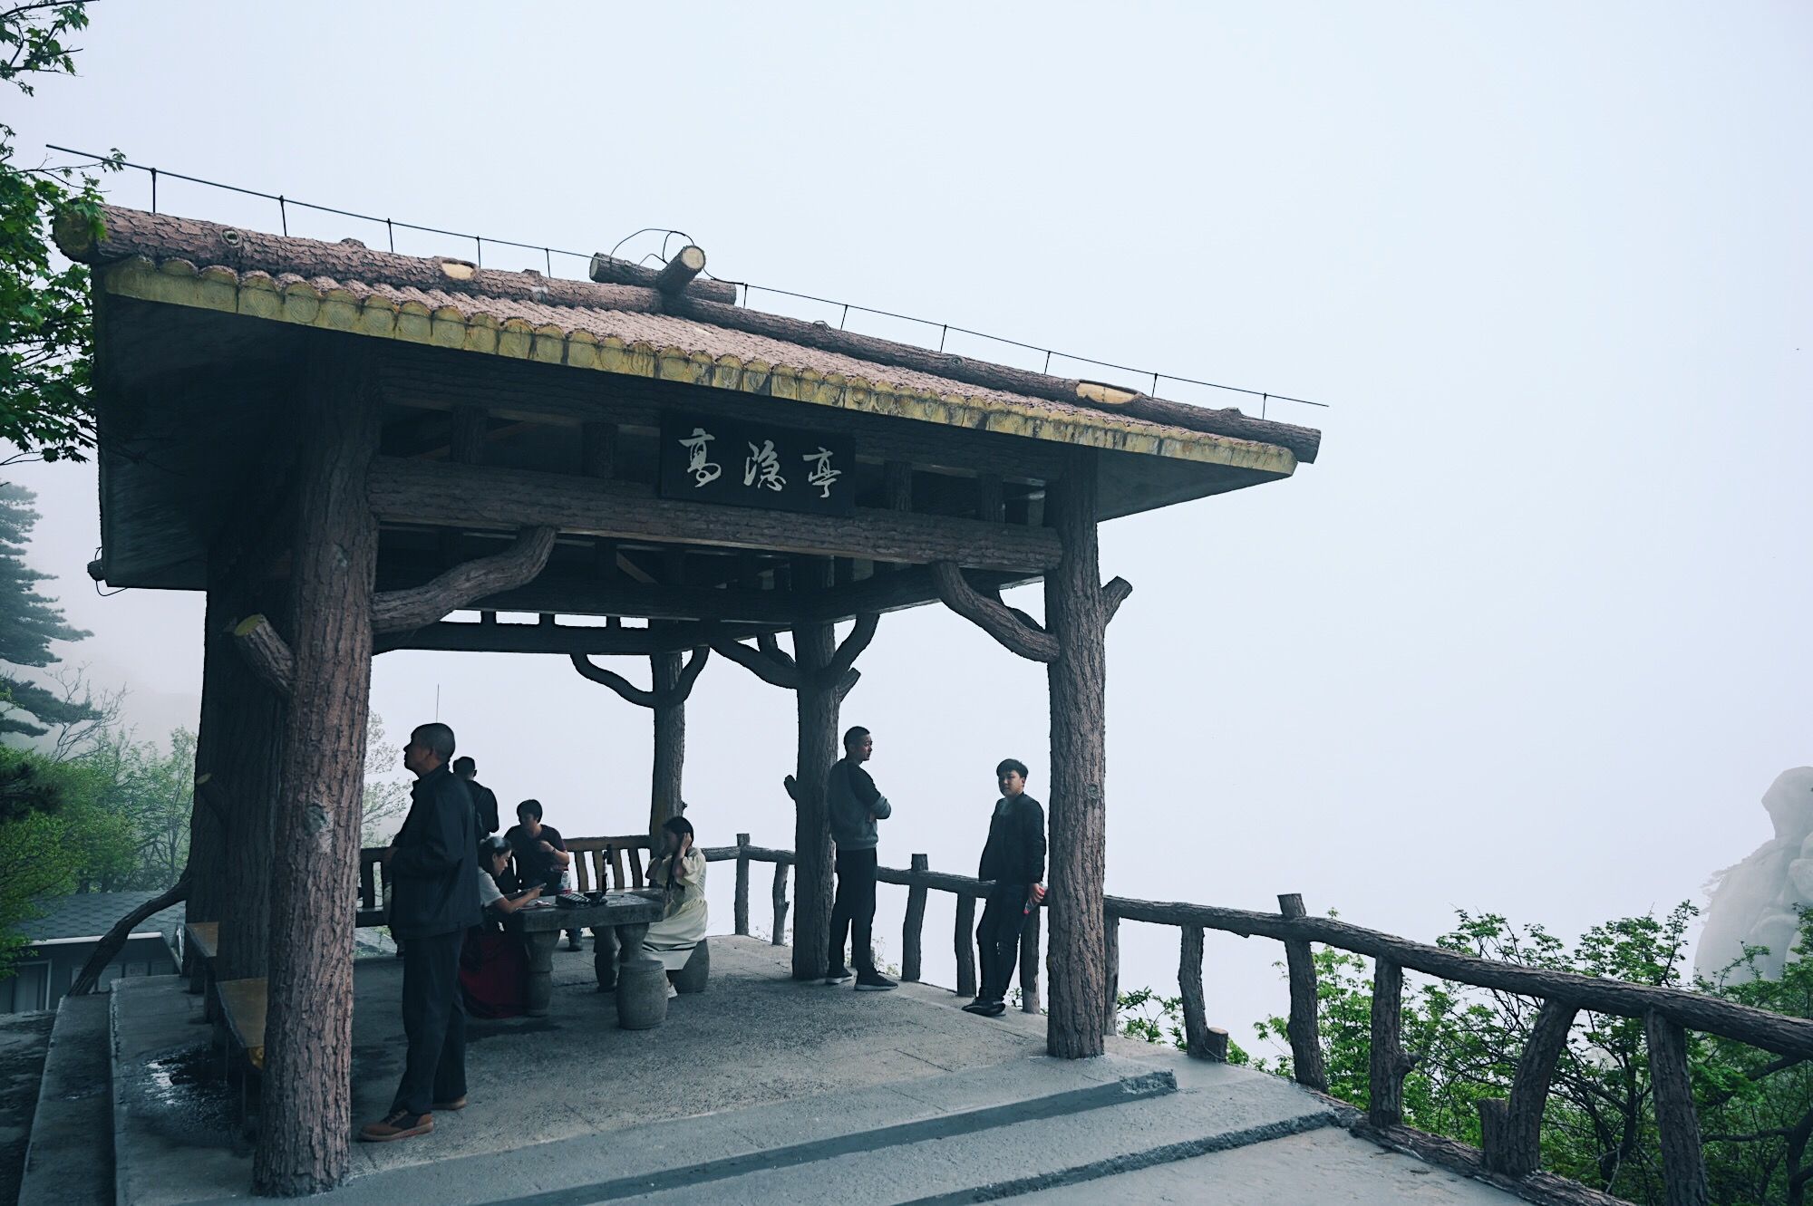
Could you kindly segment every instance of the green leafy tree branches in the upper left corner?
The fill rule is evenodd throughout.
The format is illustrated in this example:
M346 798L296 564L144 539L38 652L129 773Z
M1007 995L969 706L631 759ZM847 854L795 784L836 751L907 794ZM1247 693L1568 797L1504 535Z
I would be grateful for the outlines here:
M85 29L85 4L16 4L0 11L0 83L33 94L40 74L74 74L67 36ZM51 219L100 234L96 177L71 167L18 167L13 127L0 123L0 440L22 455L83 460L94 445L89 406L92 311L89 273L58 266ZM116 170L120 152L100 167Z

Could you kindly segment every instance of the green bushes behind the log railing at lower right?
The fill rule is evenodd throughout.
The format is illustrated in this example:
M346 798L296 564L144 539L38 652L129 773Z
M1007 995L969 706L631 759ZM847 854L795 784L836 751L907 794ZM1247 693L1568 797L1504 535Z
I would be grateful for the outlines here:
M1458 914L1438 942L1479 958L1655 987L1697 987L1795 1018L1813 1018L1813 958L1788 963L1780 980L1755 976L1750 952L1717 983L1690 983L1686 931L1697 909L1619 918L1586 931L1572 949L1541 925L1516 927L1499 914ZM1802 954L1813 954L1813 909L1802 914ZM1329 1092L1367 1106L1372 969L1345 951L1313 952L1318 1023ZM1479 1144L1481 1097L1507 1097L1539 1001L1407 980L1403 1047L1418 1067L1403 1083L1405 1123ZM1275 1045L1256 1067L1291 1074L1284 1018L1255 1027ZM1690 1036L1695 1105L1706 1139L1708 1177L1719 1202L1795 1202L1789 1181L1813 1184L1806 1137L1813 1134L1813 1067L1704 1034ZM1798 1137L1798 1146L1797 1146ZM1541 1135L1543 1168L1634 1202L1663 1201L1661 1150L1643 1021L1583 1012L1556 1065Z

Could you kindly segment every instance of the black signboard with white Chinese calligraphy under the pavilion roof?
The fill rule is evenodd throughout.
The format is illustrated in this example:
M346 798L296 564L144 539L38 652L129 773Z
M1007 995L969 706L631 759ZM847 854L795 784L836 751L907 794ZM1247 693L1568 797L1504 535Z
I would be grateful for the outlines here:
M856 444L769 424L662 416L662 498L856 514Z

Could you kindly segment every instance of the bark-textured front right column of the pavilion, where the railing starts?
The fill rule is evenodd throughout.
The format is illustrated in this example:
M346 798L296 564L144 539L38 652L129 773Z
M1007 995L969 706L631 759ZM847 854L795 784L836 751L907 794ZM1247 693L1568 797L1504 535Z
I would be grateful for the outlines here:
M1057 657L1046 663L1052 695L1046 1048L1075 1059L1102 1054L1108 1029L1102 954L1108 608L1097 585L1095 460L1077 451L1064 469L1046 496L1046 523L1064 545L1064 560L1044 579L1046 627L1057 639Z

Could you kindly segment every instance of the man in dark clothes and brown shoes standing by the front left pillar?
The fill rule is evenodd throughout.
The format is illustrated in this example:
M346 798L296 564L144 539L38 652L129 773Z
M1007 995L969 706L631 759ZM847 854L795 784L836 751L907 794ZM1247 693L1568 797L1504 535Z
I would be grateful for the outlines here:
M410 815L384 851L393 884L390 929L402 940L402 1030L410 1052L383 1121L359 1137L390 1143L426 1135L433 1110L466 1108L466 1009L459 949L479 924L479 860L471 793L453 777L453 730L422 724L402 748L415 775Z

